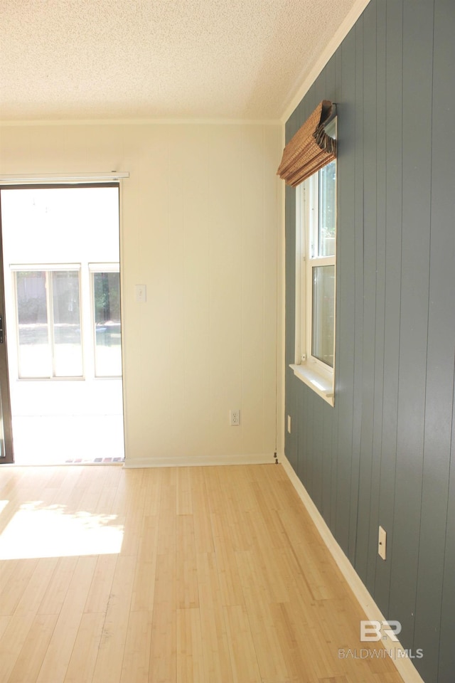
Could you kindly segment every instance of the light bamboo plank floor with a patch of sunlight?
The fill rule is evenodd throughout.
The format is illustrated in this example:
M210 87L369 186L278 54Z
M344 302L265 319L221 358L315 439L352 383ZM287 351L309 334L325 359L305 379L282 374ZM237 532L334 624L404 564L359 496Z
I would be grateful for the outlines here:
M0 477L2 683L402 682L281 465Z

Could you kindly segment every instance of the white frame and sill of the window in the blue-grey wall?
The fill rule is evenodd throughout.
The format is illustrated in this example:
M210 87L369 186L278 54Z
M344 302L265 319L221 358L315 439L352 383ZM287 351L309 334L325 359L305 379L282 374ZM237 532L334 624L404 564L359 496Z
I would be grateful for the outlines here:
M336 137L336 117L327 126L328 134ZM336 160L332 162L337 164ZM329 405L334 405L335 345L336 345L336 256L337 256L337 186L338 167L334 193L335 253L333 256L316 256L311 253L311 237L319 228L319 174L316 171L296 187L296 310L295 310L295 356L291 369L296 377L315 391ZM313 270L333 265L333 367L313 355Z

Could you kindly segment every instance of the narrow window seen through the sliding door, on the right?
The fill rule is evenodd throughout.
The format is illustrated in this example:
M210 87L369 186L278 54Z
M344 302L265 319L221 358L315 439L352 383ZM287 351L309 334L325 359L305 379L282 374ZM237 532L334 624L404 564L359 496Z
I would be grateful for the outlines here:
M95 376L122 375L120 330L120 275L117 264L90 264Z

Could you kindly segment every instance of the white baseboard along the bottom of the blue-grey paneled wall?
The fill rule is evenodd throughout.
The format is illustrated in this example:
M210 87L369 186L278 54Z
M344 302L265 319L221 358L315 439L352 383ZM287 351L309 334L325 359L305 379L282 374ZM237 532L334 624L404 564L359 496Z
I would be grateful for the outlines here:
M346 582L353 591L355 598L357 598L358 602L360 603L360 607L363 608L367 619L374 621L385 621L385 616L382 615L380 608L378 608L378 605L376 605L367 588L365 588L360 576L358 576L358 573L355 571L352 564L344 554L341 546L338 545L338 542L334 538L331 530L328 528L326 521L319 512L319 509L317 509L316 505L311 500L309 493L306 491L306 488L299 480L299 477L297 477L296 472L294 472L291 463L289 460L287 460L285 455L279 455L279 462L283 465L292 485L294 485L296 492L299 494L301 501L306 507L311 519L314 521L316 529L318 529L319 534L321 534L324 544L326 544L328 550L331 552L333 559L336 561L341 573L346 579ZM405 650L399 641L394 643L393 648L387 649L393 649L395 652L403 652ZM405 683L424 683L424 680L412 664L412 660L409 657L398 656L391 657L391 659Z

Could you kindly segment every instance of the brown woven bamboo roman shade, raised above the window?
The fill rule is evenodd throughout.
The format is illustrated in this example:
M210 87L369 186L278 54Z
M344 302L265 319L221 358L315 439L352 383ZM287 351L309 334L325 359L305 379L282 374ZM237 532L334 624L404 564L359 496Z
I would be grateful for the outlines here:
M336 140L324 128L335 106L329 100L322 100L284 147L277 174L287 185L296 187L336 159Z

